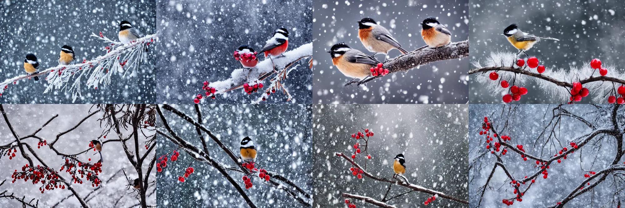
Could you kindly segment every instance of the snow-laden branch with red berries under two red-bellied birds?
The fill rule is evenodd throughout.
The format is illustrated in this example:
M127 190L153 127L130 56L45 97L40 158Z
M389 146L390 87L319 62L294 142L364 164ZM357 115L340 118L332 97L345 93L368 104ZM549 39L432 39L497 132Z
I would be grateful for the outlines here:
M247 86L262 85L262 81L266 78L270 78L269 84L264 85L266 87L253 88L252 92L261 91L262 95L252 101L258 103L266 99L271 93L282 91L286 95L286 100L291 100L291 94L286 86L284 86L284 80L286 80L292 70L297 69L299 60L307 57L312 57L312 43L301 45L296 49L284 52L284 57L279 56L272 60L267 57L259 62L256 67L251 69L236 69L231 73L231 78L216 82L204 82L205 93L196 95L194 102L199 103L202 98L212 97L214 95L230 92L237 88L245 88ZM296 65L297 64L297 65ZM208 90L206 90L206 86ZM264 90L262 90L264 89ZM252 92L247 92L251 94Z

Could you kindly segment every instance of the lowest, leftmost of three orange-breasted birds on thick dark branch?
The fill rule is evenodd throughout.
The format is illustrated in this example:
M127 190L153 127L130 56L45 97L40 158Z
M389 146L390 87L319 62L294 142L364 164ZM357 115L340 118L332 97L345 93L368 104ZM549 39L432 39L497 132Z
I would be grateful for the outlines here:
M362 53L360 50L352 49L344 42L332 45L332 48L328 51L332 57L332 64L343 75L352 77L353 79L347 82L345 85L351 85L356 78L359 78L358 84L371 75L371 67L375 67L379 61L369 57L369 55Z

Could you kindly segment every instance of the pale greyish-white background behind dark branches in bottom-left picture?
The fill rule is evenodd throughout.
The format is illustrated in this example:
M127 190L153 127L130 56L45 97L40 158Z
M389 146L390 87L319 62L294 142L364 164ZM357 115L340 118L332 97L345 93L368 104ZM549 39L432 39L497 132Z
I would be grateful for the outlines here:
M12 127L19 136L31 135L37 129L41 128L41 126L54 115L59 115L37 133L37 136L45 139L48 144L52 143L59 133L70 130L76 126L79 121L83 120L83 118L98 109L95 107L92 108L92 105L71 104L3 105L3 107L7 113L9 122L11 122ZM81 123L78 128L69 131L66 135L61 136L54 144L54 148L58 149L58 151L63 154L77 154L81 151L89 149L89 143L91 143L91 140L98 139L105 130L104 125L101 126L101 123L98 120L98 118L102 118L102 116L103 113L99 112L89 117ZM132 130L132 128L129 129ZM154 131L144 131L145 135L148 136L154 135L153 132ZM122 133L123 135L128 135L129 131L122 130ZM118 136L114 133L109 133L108 136L108 139L118 138ZM144 134L139 133L139 141L145 141L144 138ZM107 139L100 138L100 140L106 141ZM11 130L9 130L9 126L4 118L0 118L0 145L4 146L14 142L15 138L12 135ZM37 153L39 158L41 158L50 168L58 171L59 168L61 168L61 166L65 163L65 159L58 156L52 149L49 148L49 146L36 148L38 141L35 138L22 139L22 142L29 144L29 146L31 146L31 148ZM133 146L134 142L129 141L127 144ZM145 149L140 150L141 153L144 153L144 150ZM28 163L28 161L24 159L20 153L21 151L19 151L18 148L16 153L17 156L15 158L9 159L8 156L2 156L2 158L0 158L0 167L2 167L2 171L0 171L0 182L6 179L4 184L0 186L0 192L6 190L6 194L14 193L16 197L25 196L26 201L33 198L35 200L38 199L39 207L53 207L55 205L56 207L81 206L78 199L71 196L72 192L67 188L47 190L42 194L39 190L39 187L41 187L42 184L32 184L32 181L30 180L28 182L18 180L11 183L11 174L13 174L13 171L15 169L22 168L24 164ZM81 159L81 161L88 161L90 158L91 163L93 164L100 159L99 154L93 153L95 152L88 151L86 153L79 154L77 157ZM35 165L41 164L30 152L29 156ZM134 170L133 164L128 161L122 144L118 141L103 144L102 157L102 173L99 174L99 179L103 181L101 186L99 186L101 188L96 189L96 187L91 187L91 182L84 178L83 184L72 184L72 187L76 190L76 192L78 192L79 196L83 197L89 207L138 206L137 204L139 204L139 201L135 199L136 192L133 192L132 188L128 189L126 186L129 182L126 180L126 177L124 177L122 169L124 169L127 176L132 179L137 178L138 174ZM152 157L153 153L147 158ZM144 170L147 170L148 163L146 162L143 164ZM152 169L152 171L153 172L149 181L154 181L154 179L156 179L156 168ZM59 175L63 176L65 179L71 179L71 175L69 173L66 173L65 171L60 172L61 173L59 173ZM147 204L156 204L156 187L150 187L147 194ZM67 199L65 199L66 197ZM57 204L58 202L61 203ZM20 202L9 198L0 198L0 203L2 204L2 207L22 207Z

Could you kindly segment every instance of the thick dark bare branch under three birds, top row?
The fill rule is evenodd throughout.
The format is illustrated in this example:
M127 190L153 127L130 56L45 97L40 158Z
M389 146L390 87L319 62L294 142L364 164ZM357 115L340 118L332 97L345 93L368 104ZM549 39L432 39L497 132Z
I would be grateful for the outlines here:
M389 73L395 72L407 72L410 69L426 65L432 62L441 60L460 59L462 57L469 56L469 40L460 42L452 42L450 44L432 48L421 47L416 50L412 50L407 54L399 55L396 58L386 60L382 62L384 69L388 69ZM362 83L371 82L377 78L384 77L383 75L377 75L376 77L367 78Z

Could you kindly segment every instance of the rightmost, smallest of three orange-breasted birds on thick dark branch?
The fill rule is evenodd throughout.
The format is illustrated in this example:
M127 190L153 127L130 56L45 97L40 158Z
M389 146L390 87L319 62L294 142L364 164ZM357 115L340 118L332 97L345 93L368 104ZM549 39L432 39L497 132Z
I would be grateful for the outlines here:
M441 22L438 22L436 18L427 17L419 24L422 26L421 37L423 37L423 40L429 47L437 48L451 42L451 32Z

